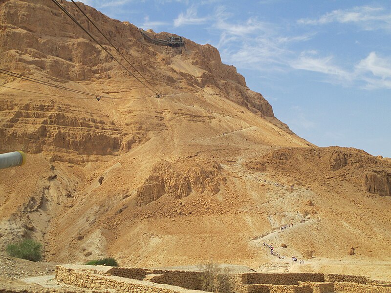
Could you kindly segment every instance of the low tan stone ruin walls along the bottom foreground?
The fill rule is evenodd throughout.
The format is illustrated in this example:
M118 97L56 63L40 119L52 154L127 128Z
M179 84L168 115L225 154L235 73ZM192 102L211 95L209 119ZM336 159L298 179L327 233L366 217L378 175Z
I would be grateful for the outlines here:
M56 279L94 291L201 293L201 272L60 265ZM323 273L232 273L235 293L391 293L391 283L364 276Z

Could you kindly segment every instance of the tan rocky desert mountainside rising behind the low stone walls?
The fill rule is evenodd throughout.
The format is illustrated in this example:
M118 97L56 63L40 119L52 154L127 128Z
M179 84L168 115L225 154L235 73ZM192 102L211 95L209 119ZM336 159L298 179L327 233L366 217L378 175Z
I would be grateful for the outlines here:
M61 3L115 55L72 3ZM388 159L298 137L211 45L155 45L129 22L79 5L164 95L157 99L51 1L1 0L0 68L103 96L0 74L0 151L28 158L0 170L1 249L33 237L56 262L213 258L301 270L265 253L268 241L284 243L287 257L313 257L303 270L391 277ZM278 231L287 223L294 227Z

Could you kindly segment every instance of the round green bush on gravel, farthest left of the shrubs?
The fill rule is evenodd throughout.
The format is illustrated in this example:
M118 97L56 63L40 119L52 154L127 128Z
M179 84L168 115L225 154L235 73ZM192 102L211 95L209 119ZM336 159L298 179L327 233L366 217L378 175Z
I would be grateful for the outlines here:
M13 257L39 261L42 259L42 244L32 239L26 239L15 244L8 244L7 252Z

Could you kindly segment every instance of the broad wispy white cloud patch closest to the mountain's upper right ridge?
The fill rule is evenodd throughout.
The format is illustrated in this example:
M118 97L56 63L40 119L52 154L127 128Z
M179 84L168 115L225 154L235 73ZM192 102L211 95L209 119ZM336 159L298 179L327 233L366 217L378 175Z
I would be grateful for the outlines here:
M224 6L215 12L215 23L211 26L220 31L216 44L223 62L238 68L261 69L261 71L286 70L294 53L292 43L305 42L313 34L285 35L275 23L250 17L244 21L232 21L236 16L228 13Z

